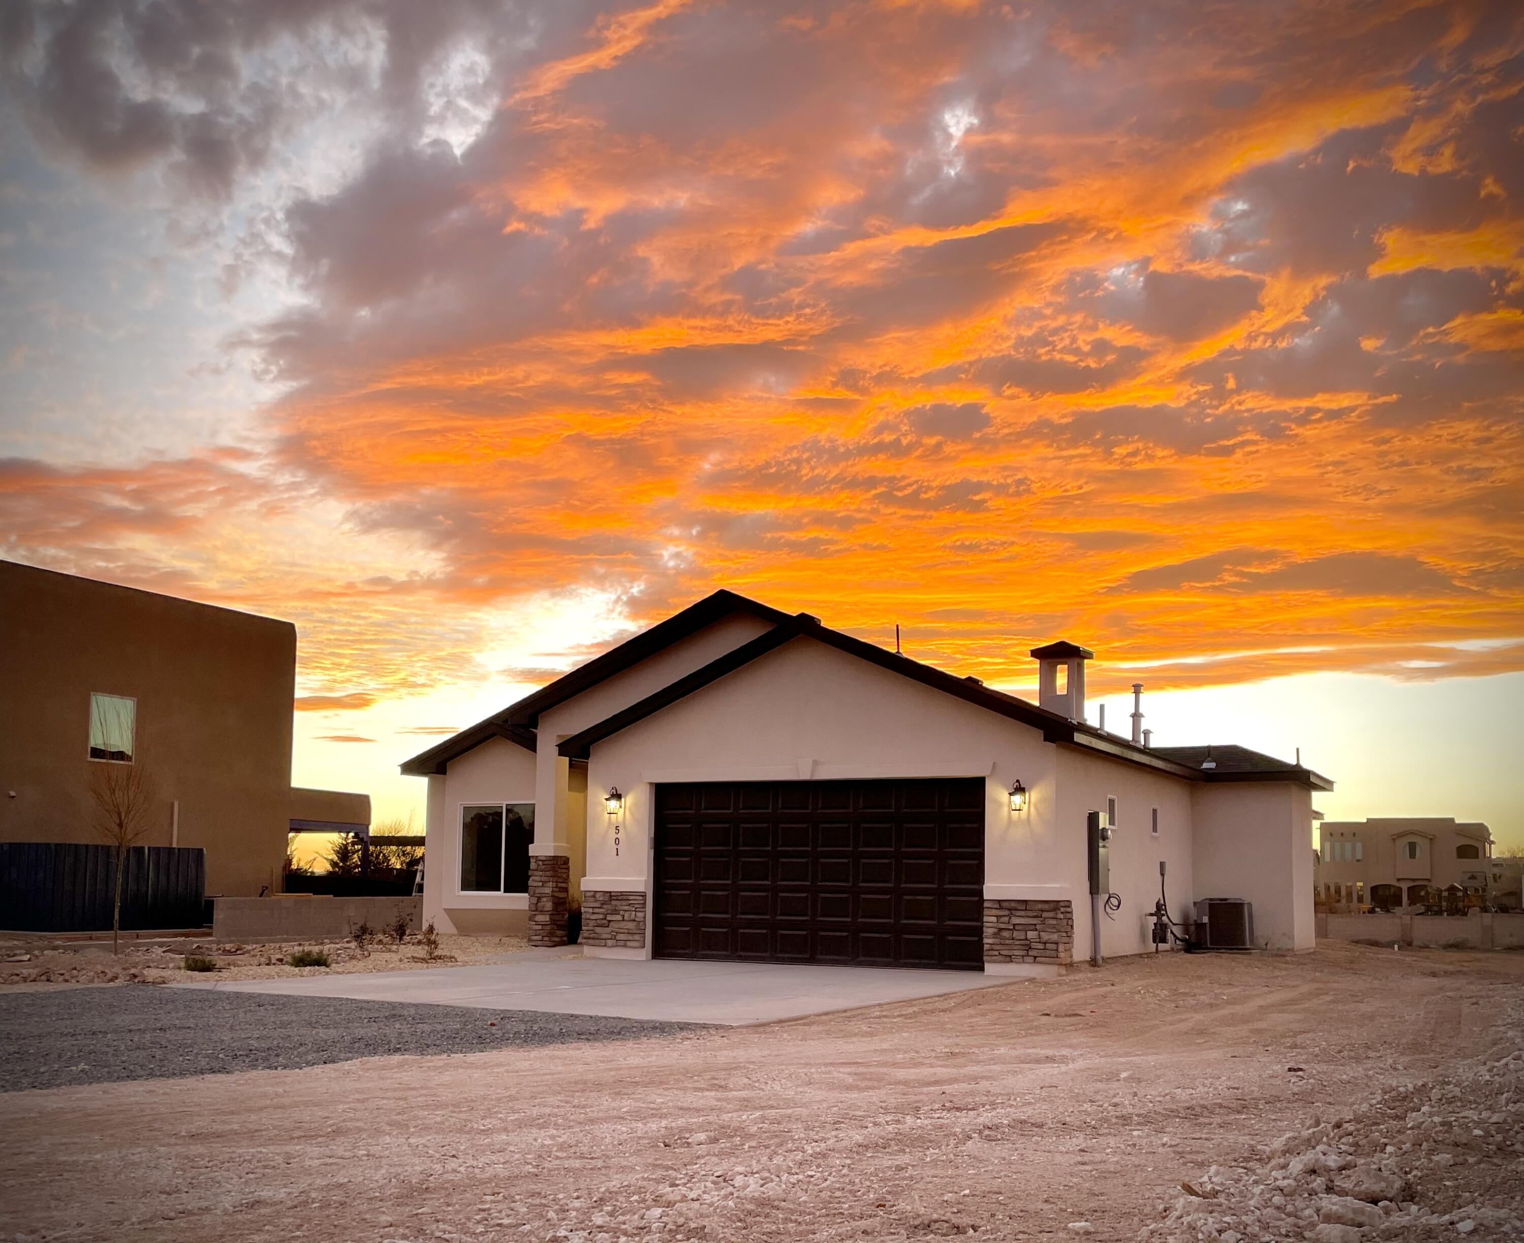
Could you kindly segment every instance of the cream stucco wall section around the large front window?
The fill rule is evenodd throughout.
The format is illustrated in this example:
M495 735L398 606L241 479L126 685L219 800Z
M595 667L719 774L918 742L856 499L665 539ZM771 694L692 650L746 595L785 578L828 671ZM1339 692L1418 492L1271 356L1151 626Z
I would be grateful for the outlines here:
M440 932L517 932L527 915L492 920L472 912L527 912L524 894L460 893L460 807L466 803L536 803L535 754L489 739L451 760L448 772L428 778L428 826L424 844L424 920ZM535 807L535 832L539 832Z

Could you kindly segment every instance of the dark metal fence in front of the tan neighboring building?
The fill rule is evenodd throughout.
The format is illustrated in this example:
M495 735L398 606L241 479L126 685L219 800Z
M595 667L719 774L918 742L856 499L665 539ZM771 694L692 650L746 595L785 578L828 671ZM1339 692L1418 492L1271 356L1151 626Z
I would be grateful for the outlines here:
M0 842L0 928L105 932L116 894L116 848L79 842ZM122 928L201 928L206 852L134 845L122 871Z

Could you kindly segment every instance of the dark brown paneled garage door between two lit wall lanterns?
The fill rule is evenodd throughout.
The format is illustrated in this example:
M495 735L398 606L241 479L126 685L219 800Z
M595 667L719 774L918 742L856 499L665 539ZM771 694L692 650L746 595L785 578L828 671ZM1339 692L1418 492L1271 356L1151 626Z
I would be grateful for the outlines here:
M985 783L657 786L658 958L983 967Z

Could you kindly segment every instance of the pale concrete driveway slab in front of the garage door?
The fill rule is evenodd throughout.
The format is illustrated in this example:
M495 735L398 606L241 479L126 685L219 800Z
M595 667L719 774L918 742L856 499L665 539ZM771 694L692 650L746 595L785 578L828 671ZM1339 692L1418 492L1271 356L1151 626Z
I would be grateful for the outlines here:
M777 963L628 961L524 955L471 967L428 967L300 979L175 984L244 993L415 1001L486 1010L539 1010L739 1027L853 1010L887 1001L1010 984L981 972L794 967Z

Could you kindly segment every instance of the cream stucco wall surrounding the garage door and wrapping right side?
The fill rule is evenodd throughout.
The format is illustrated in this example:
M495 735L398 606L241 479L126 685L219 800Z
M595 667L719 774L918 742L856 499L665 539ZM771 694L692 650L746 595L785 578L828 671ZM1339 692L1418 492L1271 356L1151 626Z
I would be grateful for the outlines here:
M1090 955L1085 812L1120 800L1113 890L1102 951L1151 951L1141 925L1169 865L1172 911L1190 899L1187 783L1132 765L1045 743L1042 736L809 638L776 652L597 743L588 766L588 876L584 888L651 894L652 786L663 781L983 777L985 896L1068 900L1074 957ZM1020 778L1027 810L1012 813ZM602 806L625 792L620 853ZM1160 838L1149 809L1160 807ZM1131 827L1129 827L1131 818Z

